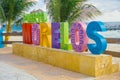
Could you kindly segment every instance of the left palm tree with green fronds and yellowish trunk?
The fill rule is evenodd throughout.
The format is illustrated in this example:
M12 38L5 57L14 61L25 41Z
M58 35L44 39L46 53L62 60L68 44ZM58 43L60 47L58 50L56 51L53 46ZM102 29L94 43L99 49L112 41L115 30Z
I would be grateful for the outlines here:
M6 23L6 32L11 32L11 24L23 16L35 2L28 0L0 0L0 22ZM5 36L8 41L9 36Z

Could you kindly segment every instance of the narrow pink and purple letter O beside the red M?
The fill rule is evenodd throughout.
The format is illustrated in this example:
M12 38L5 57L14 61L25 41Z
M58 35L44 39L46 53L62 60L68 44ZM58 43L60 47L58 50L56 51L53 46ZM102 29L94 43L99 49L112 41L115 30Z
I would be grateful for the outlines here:
M40 26L39 26L39 24L33 24L33 26L32 26L32 42L35 45L40 44Z

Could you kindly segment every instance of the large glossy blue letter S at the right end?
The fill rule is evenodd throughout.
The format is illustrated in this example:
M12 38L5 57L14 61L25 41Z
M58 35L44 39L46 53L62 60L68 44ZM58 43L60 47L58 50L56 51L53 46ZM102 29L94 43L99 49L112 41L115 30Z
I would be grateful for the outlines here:
M92 54L102 54L107 47L106 39L98 34L98 31L106 31L106 27L102 22L93 21L88 24L86 33L90 39L96 42L96 44L88 44L88 49Z

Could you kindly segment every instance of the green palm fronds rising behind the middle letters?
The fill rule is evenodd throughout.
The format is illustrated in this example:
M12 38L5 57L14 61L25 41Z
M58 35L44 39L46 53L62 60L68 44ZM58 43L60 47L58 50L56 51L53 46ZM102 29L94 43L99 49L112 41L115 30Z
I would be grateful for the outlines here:
M48 1L48 0L47 0ZM100 15L101 12L87 0L49 0L47 2L48 14L55 22L84 21Z

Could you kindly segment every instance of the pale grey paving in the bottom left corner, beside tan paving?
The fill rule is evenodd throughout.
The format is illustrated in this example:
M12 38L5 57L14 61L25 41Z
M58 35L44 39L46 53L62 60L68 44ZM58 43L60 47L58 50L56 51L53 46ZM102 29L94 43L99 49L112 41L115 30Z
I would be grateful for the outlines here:
M38 80L34 76L9 64L0 62L0 80Z

